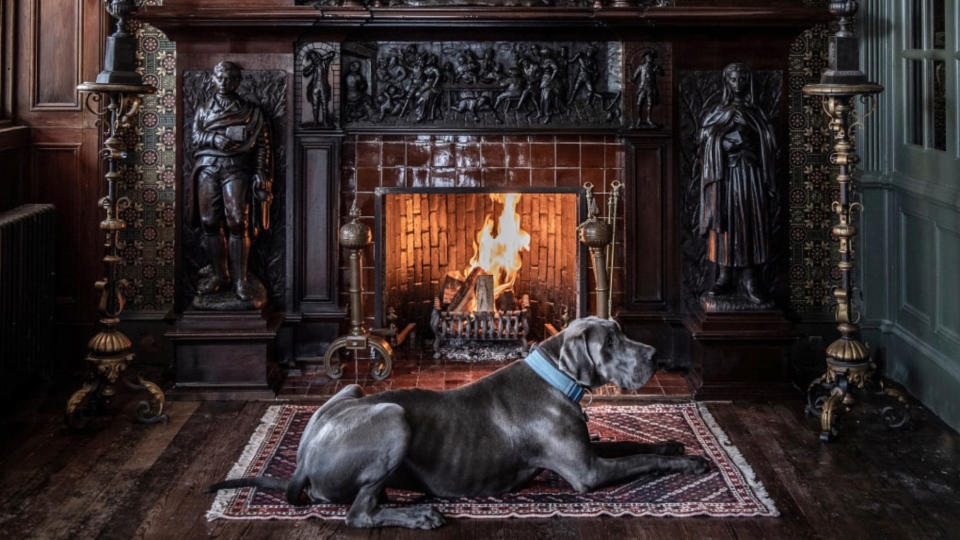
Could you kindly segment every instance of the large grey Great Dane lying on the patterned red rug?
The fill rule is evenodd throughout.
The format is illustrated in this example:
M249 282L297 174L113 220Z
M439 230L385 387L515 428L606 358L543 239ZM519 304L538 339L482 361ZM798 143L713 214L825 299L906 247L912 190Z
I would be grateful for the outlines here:
M207 488L286 491L291 504L352 501L347 524L432 529L429 505L386 508L384 489L439 497L498 495L544 469L586 492L642 474L702 473L709 462L683 445L591 442L578 404L584 389L646 384L653 347L613 321L589 317L542 342L525 360L456 390L409 389L364 396L347 386L310 418L291 479L238 478Z

